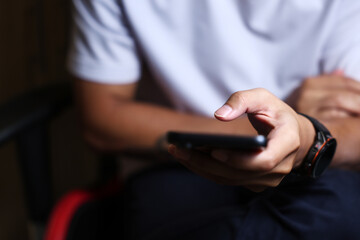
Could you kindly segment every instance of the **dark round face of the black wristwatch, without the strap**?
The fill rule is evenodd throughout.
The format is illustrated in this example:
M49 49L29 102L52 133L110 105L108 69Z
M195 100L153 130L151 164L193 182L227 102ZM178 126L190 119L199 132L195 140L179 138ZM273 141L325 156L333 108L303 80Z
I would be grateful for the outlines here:
M313 167L313 177L320 176L330 165L331 160L334 157L335 150L336 140L335 138L329 138L318 153L317 160L314 163L315 166Z

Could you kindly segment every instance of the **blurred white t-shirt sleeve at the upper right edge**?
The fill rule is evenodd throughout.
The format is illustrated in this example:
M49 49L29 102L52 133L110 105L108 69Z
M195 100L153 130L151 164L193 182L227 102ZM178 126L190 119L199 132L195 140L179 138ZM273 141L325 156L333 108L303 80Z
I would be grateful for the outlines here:
M360 81L360 1L339 1L335 24L323 52L323 72L336 69Z

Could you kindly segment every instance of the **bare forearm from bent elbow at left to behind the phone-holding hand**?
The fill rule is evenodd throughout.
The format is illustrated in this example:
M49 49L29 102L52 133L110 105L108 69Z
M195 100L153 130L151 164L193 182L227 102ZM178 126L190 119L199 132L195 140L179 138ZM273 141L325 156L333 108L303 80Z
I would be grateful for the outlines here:
M88 142L96 148L112 151L154 148L169 130L255 134L247 118L224 123L133 101L114 102L102 109L101 116L84 116L83 119Z

